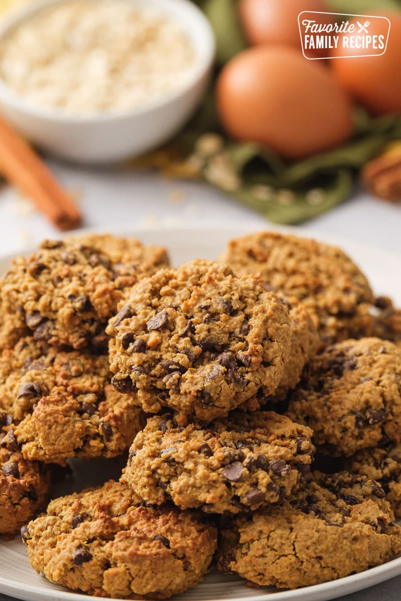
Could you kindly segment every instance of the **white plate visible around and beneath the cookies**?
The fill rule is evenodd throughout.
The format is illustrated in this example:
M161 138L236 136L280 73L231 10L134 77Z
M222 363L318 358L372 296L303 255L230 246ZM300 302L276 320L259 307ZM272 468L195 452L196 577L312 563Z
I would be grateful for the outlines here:
M113 228L113 233L136 236L147 244L167 246L170 250L173 264L195 257L215 258L232 237L241 236L249 230L239 227L207 229L159 229L150 228L139 230L135 227ZM295 231L296 230L292 230ZM82 231L80 232L82 233ZM302 230L301 235L315 236L314 232ZM316 235L319 239L319 235ZM320 237L321 239L321 237ZM360 265L369 276L377 294L386 294L401 304L401 281L399 273L400 257L391 255L379 249L361 246L354 242L333 239L325 236L325 242L333 243L344 249ZM0 258L0 273L7 269L10 257ZM92 486L97 481L103 481L117 472L120 466L116 460L93 460L93 462L74 462L74 477L72 482L58 487L57 494L66 494L72 489L80 490L84 484ZM108 473L106 473L108 472ZM69 489L70 487L70 489ZM248 588L236 576L223 576L218 572L210 573L204 581L187 593L175 597L186 601L218 601L240 600L247 601L324 601L345 594L353 593L374 584L383 582L401 574L401 557L388 561L382 566L374 567L365 572L347 576L337 581L325 582L305 587L295 591L278 591L274 587ZM62 587L51 584L43 576L37 575L29 567L28 559L22 543L16 538L11 542L0 542L0 591L18 599L41 601L88 601L84 594L72 593Z

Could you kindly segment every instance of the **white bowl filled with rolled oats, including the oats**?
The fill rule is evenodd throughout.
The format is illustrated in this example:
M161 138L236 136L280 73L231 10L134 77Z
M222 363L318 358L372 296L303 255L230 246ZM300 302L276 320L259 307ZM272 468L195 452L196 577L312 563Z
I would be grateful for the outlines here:
M0 110L79 163L138 156L191 117L215 40L189 0L41 0L0 22Z

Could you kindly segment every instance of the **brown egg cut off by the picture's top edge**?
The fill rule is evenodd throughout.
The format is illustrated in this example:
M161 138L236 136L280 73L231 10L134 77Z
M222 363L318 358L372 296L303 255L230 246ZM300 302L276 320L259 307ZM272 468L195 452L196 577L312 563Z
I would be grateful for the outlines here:
M239 14L245 35L251 44L285 44L301 50L298 14L302 11L329 12L322 0L240 0ZM316 23L328 23L331 17L316 14ZM310 52L311 53L311 52ZM315 56L327 51L315 50Z

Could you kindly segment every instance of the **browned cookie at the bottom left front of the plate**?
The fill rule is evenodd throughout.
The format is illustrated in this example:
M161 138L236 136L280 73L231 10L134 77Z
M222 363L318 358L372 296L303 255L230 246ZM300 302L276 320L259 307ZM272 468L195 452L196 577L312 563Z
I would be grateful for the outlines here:
M165 599L198 584L215 552L216 528L193 511L138 504L113 481L55 499L21 530L31 566L99 597Z

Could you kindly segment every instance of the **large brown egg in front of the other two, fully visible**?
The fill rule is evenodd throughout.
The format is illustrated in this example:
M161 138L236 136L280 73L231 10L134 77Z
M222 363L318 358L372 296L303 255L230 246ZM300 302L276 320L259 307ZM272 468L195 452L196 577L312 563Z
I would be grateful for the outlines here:
M298 159L346 140L350 102L331 71L289 46L254 46L227 63L216 84L221 122L233 138Z

